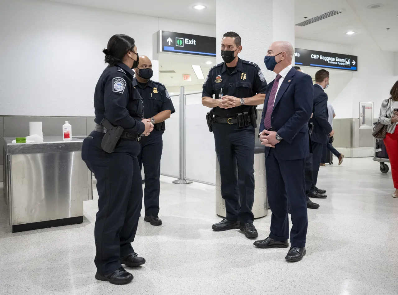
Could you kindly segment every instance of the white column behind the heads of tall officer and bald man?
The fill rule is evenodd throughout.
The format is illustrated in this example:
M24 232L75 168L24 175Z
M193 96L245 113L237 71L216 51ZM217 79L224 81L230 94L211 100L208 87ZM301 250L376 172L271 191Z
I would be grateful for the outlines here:
M294 0L217 0L217 63L222 62L222 35L234 31L242 37L239 57L258 64L267 82L272 81L275 74L265 68L264 56L273 41L289 41L294 47L294 18Z

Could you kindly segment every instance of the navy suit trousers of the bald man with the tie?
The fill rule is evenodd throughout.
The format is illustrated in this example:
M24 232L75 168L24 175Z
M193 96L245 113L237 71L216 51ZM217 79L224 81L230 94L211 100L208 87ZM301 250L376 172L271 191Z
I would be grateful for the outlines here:
M289 239L288 203L291 206L292 247L305 247L307 235L307 202L305 198L305 159L285 161L279 159L275 148L265 158L268 203L271 208L271 232L276 241Z

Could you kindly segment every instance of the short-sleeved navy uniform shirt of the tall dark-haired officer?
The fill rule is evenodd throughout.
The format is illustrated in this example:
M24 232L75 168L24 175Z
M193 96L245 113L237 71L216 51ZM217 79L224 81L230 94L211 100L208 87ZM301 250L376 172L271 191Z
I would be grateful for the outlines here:
M256 94L265 94L267 82L261 69L253 62L247 62L238 58L238 64L230 73L225 62L212 67L207 74L203 84L202 97L209 96L215 99L219 98L221 92L223 95L235 96L237 98L248 98ZM235 108L213 108L215 116L234 117L237 113L247 112L251 106L237 106Z

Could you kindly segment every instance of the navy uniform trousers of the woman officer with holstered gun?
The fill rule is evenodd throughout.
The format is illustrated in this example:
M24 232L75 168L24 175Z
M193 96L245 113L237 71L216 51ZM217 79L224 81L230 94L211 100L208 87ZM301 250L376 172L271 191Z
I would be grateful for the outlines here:
M134 252L131 243L142 207L142 179L137 141L120 139L115 151L104 152L104 133L93 131L84 139L82 159L97 179L98 212L94 227L96 257L100 274L121 267L120 258Z

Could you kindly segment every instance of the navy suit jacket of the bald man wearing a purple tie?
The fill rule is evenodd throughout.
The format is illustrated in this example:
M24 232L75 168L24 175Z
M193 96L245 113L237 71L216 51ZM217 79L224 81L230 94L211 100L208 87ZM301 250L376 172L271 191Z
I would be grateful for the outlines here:
M269 83L267 88L259 132L264 130L264 117L274 81ZM277 131L283 138L283 141L275 146L281 160L297 160L309 156L308 121L311 117L313 98L312 78L292 67L275 97L271 115L272 130ZM265 157L268 156L269 149L265 147Z

